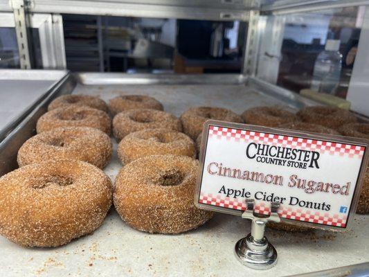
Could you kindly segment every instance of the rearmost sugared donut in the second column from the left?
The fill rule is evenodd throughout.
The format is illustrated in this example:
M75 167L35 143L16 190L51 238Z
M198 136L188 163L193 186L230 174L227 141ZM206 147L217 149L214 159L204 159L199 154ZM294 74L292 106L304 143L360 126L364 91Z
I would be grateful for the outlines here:
M157 109L163 111L163 104L153 97L141 95L117 96L109 100L111 114L116 115L127 109Z

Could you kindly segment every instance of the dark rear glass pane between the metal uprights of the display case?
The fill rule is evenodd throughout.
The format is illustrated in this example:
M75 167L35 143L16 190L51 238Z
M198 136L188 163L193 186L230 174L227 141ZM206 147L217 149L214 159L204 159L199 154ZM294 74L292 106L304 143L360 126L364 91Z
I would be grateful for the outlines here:
M63 22L71 71L240 73L246 24L239 21L63 15Z

